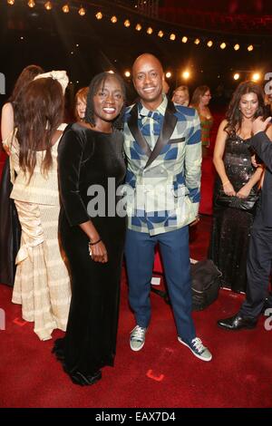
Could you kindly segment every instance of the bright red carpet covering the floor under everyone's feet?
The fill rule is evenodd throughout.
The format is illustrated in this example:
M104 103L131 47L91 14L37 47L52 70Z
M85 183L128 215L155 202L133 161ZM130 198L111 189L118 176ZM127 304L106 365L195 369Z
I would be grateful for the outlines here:
M192 257L199 258L199 244L202 254L207 248L209 221L201 219ZM221 290L213 305L193 314L212 362L199 361L178 343L170 307L154 294L146 344L132 353L134 321L123 276L115 367L105 368L102 381L89 388L73 385L51 354L53 342L40 342L33 324L22 322L20 306L10 302L11 289L0 286L0 297L6 313L6 330L0 331L1 407L271 407L272 340L264 318L257 329L238 333L216 325L219 317L237 311L242 295Z

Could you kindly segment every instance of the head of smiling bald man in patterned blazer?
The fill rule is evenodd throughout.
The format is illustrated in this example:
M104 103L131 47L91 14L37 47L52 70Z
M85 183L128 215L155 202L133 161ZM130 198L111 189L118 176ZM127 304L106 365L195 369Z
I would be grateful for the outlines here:
M162 102L163 70L159 59L151 53L143 53L132 66L132 78L143 105L155 110Z

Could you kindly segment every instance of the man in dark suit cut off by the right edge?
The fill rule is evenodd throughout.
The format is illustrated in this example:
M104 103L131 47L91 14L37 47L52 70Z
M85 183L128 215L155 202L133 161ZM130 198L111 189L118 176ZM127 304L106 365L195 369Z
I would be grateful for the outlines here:
M253 122L251 146L266 166L265 177L260 197L260 206L253 223L248 250L247 276L248 287L245 302L238 314L219 320L219 327L226 330L254 328L261 314L266 297L272 265L272 126L267 130L271 120L263 121L258 117ZM269 134L271 140L265 133ZM267 305L272 306L269 295Z

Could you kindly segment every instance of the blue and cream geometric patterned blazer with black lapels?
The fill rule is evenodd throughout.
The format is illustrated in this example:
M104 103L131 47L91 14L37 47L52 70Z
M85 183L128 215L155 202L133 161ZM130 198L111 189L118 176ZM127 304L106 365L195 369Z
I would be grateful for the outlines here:
M182 228L199 211L201 140L198 112L168 101L153 150L139 130L139 105L127 108L128 228L157 235Z

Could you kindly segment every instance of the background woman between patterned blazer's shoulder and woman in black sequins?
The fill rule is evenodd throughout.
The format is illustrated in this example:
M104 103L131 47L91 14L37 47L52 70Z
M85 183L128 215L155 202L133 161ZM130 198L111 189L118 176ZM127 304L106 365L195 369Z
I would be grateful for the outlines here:
M207 154L207 148L209 148L209 133L213 125L213 117L209 110L210 98L211 94L209 86L199 86L193 92L189 105L190 107L195 108L199 112L203 156Z

